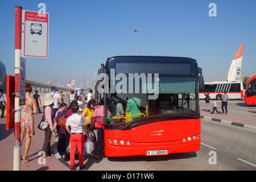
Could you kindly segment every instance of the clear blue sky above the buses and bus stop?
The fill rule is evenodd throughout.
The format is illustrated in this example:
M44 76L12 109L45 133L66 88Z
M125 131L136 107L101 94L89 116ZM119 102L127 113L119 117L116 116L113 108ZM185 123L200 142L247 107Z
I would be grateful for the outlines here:
M255 0L99 0L0 1L0 60L14 75L15 6L49 13L49 58L26 59L26 77L92 79L107 57L137 55L192 57L205 81L226 78L231 61L243 46L242 76L256 75ZM216 3L217 16L208 7Z

